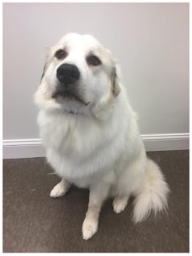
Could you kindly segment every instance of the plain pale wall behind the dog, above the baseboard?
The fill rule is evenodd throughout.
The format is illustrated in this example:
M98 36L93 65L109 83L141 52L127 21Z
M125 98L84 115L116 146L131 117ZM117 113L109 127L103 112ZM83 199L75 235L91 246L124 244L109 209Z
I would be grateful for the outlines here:
M162 149L188 148L189 3L3 3L4 146L39 137L32 96L48 46L67 32L114 52L141 134L176 134L183 143Z

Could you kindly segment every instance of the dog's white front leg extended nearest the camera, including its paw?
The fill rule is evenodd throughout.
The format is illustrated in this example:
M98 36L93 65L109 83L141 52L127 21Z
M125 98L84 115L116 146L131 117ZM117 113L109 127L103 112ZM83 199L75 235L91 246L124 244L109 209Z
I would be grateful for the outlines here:
M99 212L104 200L107 198L110 187L99 184L90 188L88 212L82 224L82 237L91 238L98 230Z

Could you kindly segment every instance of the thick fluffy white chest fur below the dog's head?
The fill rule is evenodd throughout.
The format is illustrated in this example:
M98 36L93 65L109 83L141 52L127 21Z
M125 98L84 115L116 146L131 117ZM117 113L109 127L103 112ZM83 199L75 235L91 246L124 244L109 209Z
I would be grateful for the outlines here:
M120 128L73 114L39 113L42 142L48 162L72 183L89 183L115 167L122 151ZM117 131L118 130L118 131Z

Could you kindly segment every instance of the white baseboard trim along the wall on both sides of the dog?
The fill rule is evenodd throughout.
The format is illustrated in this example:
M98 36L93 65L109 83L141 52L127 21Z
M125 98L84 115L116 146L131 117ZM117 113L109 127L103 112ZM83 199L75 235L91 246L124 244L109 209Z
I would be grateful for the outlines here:
M141 135L147 151L189 149L189 133ZM3 159L43 157L41 139L3 140Z

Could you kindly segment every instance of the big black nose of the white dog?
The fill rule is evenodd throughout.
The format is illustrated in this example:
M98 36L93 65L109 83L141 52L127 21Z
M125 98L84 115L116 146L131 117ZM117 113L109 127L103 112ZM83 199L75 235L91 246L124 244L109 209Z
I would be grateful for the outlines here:
M63 84L74 84L80 78L80 72L75 65L63 64L57 69L57 78Z

